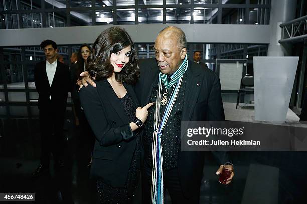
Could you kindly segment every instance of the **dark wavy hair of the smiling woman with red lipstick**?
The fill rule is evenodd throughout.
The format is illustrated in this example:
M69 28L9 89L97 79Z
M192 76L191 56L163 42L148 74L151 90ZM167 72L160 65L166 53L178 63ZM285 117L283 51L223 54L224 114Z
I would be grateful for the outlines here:
M106 79L112 76L113 66L110 57L112 53L131 46L129 62L122 68L121 72L115 73L117 82L134 84L139 78L139 66L137 53L131 37L127 31L120 27L110 27L104 30L96 39L87 59L87 71L96 80Z

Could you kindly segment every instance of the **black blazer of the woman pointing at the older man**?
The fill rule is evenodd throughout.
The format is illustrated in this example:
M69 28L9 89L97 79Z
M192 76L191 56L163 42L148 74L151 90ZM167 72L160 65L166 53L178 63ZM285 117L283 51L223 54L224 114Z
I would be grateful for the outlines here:
M136 147L129 119L112 86L104 79L95 81L79 92L86 118L96 136L91 177L101 178L113 187L124 187ZM139 106L131 85L124 84L127 93Z

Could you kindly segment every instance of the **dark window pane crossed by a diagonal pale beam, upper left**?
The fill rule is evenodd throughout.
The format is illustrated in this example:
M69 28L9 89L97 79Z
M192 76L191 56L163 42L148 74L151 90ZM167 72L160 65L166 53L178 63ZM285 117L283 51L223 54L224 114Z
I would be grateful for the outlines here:
M93 11L71 11L70 22L71 26L88 26L93 23Z

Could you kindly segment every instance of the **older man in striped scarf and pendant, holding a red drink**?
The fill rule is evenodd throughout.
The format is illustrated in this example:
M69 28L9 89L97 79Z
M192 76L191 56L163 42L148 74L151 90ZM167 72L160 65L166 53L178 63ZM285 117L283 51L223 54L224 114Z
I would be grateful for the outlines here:
M155 102L141 136L142 203L163 203L166 189L172 203L199 203L204 152L181 151L181 121L224 120L220 81L216 73L187 59L186 37L178 27L163 29L154 49L156 60L140 61L135 86L141 106ZM85 86L86 81L95 86L88 77L83 78Z

